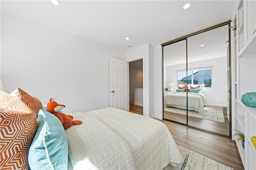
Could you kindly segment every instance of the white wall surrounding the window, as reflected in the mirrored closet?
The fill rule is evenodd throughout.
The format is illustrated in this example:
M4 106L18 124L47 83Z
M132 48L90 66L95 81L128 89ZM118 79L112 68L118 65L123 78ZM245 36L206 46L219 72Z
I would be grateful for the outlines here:
M188 69L213 67L212 88L204 88L204 94L208 105L227 106L227 58L217 58L188 63ZM186 69L186 64L178 64L166 67L166 82L174 82L173 90L176 89L176 70ZM164 86L167 86L164 84Z

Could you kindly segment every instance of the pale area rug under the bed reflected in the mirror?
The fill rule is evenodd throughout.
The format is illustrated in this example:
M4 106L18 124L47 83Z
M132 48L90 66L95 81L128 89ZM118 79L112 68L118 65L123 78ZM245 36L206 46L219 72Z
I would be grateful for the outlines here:
M188 115L192 116L192 117L198 117L201 119L208 119L208 120L212 120L212 121L218 121L221 123L224 123L224 116L223 116L223 112L221 110L214 110L214 109L205 109L206 111L202 114L199 114L197 111L192 111L189 110L188 111ZM164 111L168 111L168 112L173 112L173 113L180 113L183 115L187 114L187 111L185 109L178 109L175 107L166 107L164 106Z

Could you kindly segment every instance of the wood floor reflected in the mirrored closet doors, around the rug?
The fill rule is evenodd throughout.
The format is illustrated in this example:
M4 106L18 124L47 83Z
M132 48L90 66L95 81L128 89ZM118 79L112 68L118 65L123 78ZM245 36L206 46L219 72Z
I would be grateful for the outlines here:
M225 123L188 116L188 125L229 136L229 121L227 116L227 107L220 107L220 106L206 106L206 107L208 109L221 110L223 112ZM178 113L164 111L164 118L172 121L184 123L184 124L187 123L186 115L182 115Z

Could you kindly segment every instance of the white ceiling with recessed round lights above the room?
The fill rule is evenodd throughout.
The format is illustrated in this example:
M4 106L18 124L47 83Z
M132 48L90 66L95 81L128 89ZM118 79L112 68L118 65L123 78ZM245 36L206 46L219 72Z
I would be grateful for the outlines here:
M184 10L188 1L191 6ZM228 21L236 1L60 0L60 6L50 0L0 2L3 12L125 52Z

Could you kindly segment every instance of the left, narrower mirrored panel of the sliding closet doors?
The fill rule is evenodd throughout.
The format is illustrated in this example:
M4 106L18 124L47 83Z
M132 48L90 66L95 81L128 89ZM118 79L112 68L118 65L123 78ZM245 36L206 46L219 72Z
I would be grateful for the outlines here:
M186 79L186 39L163 47L164 66L164 118L187 124L186 93L175 96L176 91L184 91ZM177 70L181 73L177 78ZM176 87L180 84L179 89ZM166 90L168 88L168 90ZM182 95L181 97L178 95ZM178 103L178 104L177 104Z

